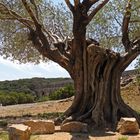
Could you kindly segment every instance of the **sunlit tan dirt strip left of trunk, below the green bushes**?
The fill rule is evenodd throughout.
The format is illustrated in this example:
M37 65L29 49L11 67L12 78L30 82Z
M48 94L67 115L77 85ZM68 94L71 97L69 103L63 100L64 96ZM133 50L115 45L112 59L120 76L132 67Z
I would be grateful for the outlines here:
M71 99L46 101L33 104L18 104L0 107L0 117L37 115L39 113L64 112L72 103Z

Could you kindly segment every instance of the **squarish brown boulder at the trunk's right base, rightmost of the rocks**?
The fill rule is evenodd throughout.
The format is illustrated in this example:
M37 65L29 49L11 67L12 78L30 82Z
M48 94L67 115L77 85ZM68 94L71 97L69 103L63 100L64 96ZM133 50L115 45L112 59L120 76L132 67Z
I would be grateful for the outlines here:
M139 125L135 118L121 118L117 131L121 134L138 134L139 133Z

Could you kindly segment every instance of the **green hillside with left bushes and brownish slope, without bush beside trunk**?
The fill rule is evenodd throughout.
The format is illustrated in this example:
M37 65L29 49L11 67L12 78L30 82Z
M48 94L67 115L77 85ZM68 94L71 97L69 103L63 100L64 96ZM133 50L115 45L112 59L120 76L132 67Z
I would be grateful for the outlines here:
M44 101L55 91L72 83L70 78L32 78L0 82L0 104ZM63 91L62 89L59 90ZM50 96L52 98L52 96ZM55 97L53 97L55 98Z

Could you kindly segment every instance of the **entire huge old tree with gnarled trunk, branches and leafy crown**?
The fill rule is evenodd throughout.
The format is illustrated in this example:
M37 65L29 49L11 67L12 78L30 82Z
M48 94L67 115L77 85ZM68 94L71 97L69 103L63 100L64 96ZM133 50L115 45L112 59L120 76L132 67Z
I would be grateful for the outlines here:
M121 74L140 53L138 0L122 2L121 6L109 0L65 2L71 13L63 5L63 10L50 4L46 8L43 0L1 0L1 27L13 25L0 28L2 54L22 62L38 62L40 53L43 59L50 59L69 72L76 94L65 112L69 117L65 122L78 120L115 128L120 117L125 116L135 117L140 124L140 116L120 95ZM13 31L16 32L9 39L5 33Z

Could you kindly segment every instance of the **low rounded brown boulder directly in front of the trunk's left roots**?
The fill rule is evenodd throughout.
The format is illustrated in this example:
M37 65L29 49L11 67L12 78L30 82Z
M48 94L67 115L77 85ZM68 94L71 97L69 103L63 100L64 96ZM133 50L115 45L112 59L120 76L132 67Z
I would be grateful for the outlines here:
M86 133L87 131L87 124L81 122L68 122L61 125L61 131L63 132L83 132Z

